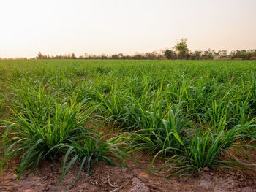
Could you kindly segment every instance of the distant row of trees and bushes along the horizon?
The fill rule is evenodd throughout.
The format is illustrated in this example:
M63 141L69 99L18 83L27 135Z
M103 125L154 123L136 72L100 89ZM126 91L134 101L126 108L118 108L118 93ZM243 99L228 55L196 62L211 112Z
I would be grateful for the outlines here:
M1 58L0 58L1 59ZM26 58L19 58L26 59ZM177 44L169 49L153 51L148 53L135 53L134 55L127 55L123 53L113 55L90 55L85 53L79 57L75 56L75 53L69 53L66 55L42 55L41 52L37 54L37 57L31 59L191 59L191 60L211 60L211 59L238 59L249 60L256 59L255 50L233 50L230 53L227 50L189 50L187 46L187 39L181 39Z

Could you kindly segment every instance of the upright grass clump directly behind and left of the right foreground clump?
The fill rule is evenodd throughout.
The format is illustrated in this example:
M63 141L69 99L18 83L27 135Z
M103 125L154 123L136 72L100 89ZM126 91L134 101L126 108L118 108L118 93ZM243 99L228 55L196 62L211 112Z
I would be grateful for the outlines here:
M181 104L182 102L170 110L165 115L166 119L163 119L164 114L161 110L148 112L141 109L141 129L124 134L132 150L148 150L150 153L158 153L166 148L178 147L180 143L176 137L186 134L181 130L185 124L181 120ZM166 153L170 154L172 151L165 151L165 155Z

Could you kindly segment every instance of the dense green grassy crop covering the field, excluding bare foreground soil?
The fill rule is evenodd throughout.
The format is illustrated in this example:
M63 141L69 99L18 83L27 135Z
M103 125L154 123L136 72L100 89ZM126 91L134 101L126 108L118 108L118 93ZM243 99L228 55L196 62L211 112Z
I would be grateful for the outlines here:
M254 169L228 154L255 149L255 74L256 61L0 61L0 173L64 157L62 176L79 162L79 177L142 150L165 159L151 172Z

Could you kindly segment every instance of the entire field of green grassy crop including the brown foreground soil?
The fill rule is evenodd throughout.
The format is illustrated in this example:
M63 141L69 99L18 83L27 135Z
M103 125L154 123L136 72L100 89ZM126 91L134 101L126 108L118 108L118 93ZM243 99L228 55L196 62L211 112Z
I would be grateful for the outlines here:
M255 75L256 61L2 60L0 191L253 191Z

